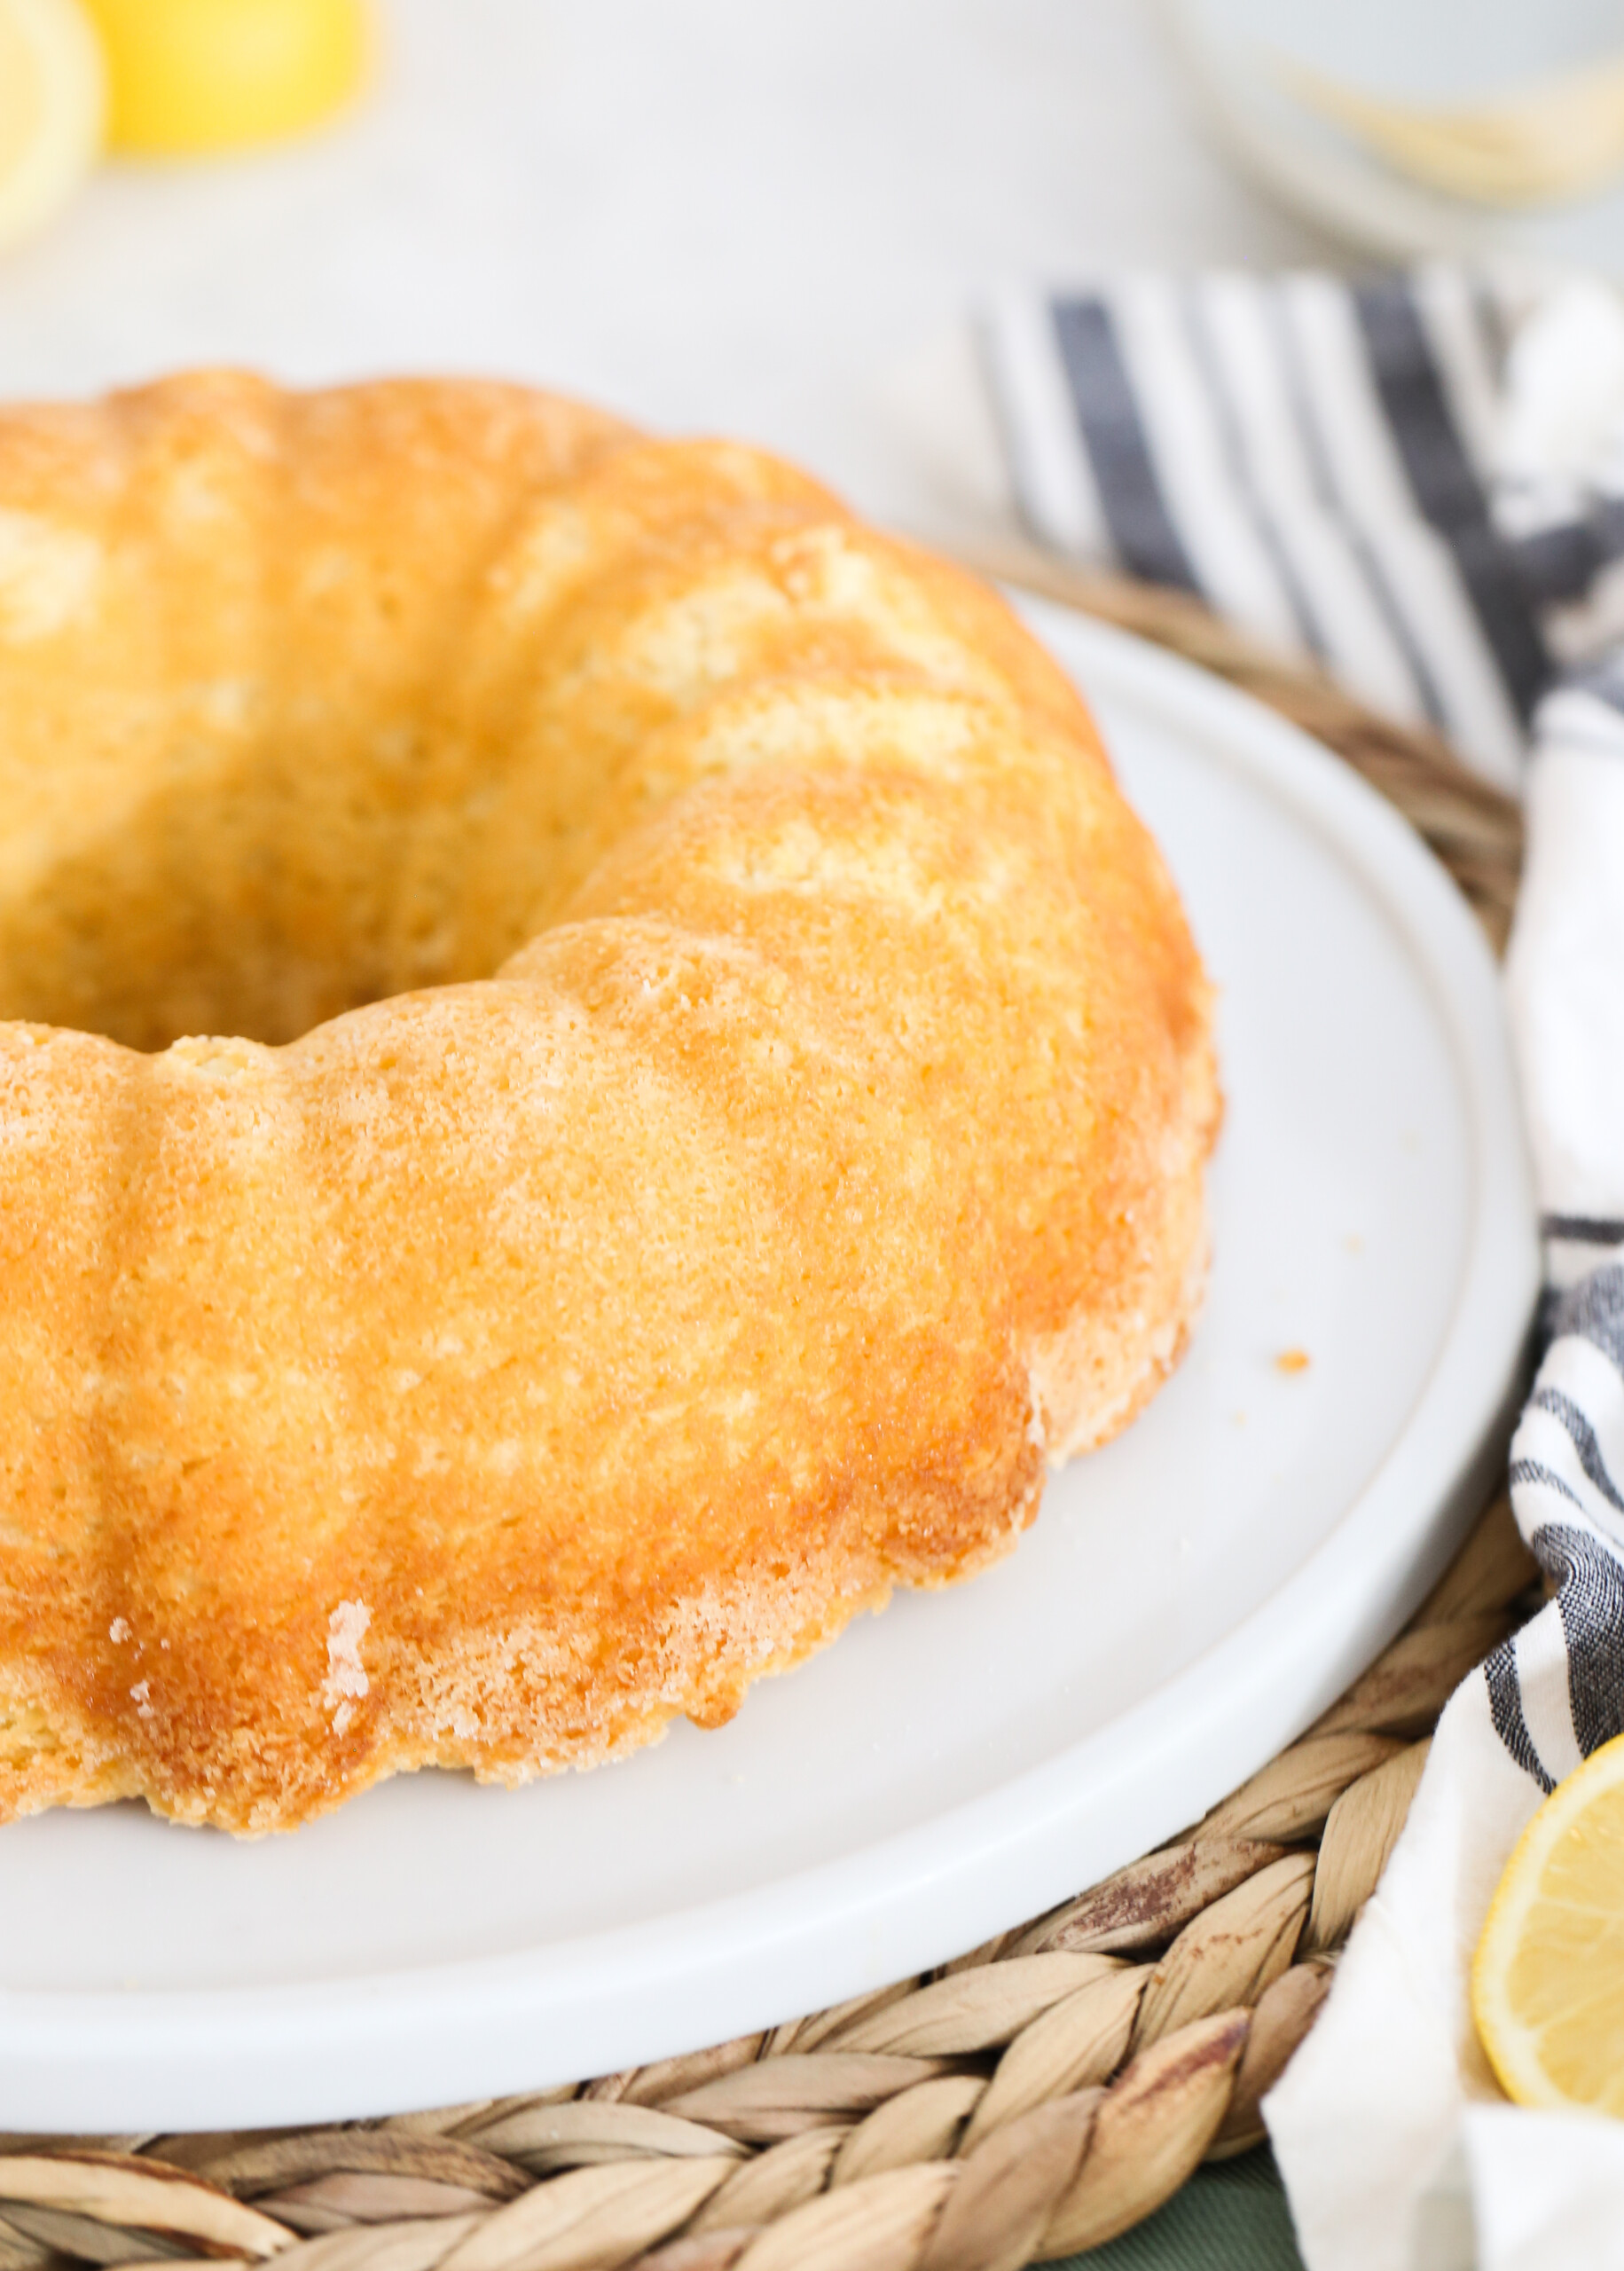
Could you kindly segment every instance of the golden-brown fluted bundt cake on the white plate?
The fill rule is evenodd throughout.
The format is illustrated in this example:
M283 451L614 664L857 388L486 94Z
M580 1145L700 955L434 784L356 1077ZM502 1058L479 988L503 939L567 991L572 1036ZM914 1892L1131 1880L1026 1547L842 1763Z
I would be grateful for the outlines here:
M0 1020L7 1817L718 1724L1199 1299L1208 986L1068 679L520 388L0 413Z

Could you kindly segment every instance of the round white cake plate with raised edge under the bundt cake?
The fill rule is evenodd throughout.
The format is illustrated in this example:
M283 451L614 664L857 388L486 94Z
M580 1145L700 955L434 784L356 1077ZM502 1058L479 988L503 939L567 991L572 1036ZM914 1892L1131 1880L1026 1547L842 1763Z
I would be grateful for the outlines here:
M1538 1281L1492 961L1336 759L1029 613L1222 988L1217 1254L1179 1376L1006 1565L863 1619L720 1733L522 1792L422 1774L263 1844L132 1805L0 1830L0 2128L545 2087L918 1971L1195 1819L1440 1574Z

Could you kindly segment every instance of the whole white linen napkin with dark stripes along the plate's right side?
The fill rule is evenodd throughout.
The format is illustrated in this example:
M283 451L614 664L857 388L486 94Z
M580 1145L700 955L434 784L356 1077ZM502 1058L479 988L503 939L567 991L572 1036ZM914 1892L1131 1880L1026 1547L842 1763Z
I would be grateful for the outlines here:
M1031 529L1179 584L1526 793L1508 956L1545 1213L1513 1506L1556 1599L1449 1703L1267 2101L1311 2271L1624 2266L1624 2126L1506 2107L1467 1967L1547 1790L1624 1728L1624 300L1460 268L1011 291Z

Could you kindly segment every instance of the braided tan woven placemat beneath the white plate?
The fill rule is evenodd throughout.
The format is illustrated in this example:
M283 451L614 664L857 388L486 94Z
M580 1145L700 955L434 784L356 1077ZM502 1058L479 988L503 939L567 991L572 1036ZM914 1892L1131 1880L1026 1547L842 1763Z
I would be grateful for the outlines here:
M1497 947L1517 808L1183 595L972 565L1247 688L1406 813ZM538 2096L343 2128L0 2139L0 2271L1018 2271L1263 2137L1460 1676L1535 1585L1504 1497L1408 1631L1174 1844L915 1980Z

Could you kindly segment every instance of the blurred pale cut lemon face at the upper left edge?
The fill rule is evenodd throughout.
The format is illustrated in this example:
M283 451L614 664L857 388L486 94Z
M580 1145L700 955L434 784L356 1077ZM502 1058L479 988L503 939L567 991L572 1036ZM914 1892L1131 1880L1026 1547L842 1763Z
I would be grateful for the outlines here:
M77 188L102 109L102 55L79 0L0 0L0 245Z

